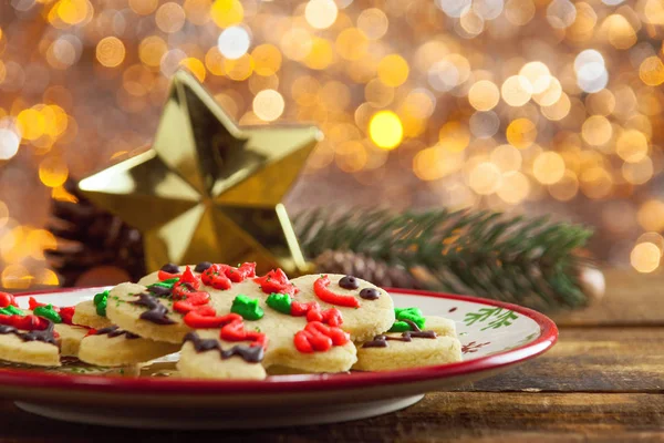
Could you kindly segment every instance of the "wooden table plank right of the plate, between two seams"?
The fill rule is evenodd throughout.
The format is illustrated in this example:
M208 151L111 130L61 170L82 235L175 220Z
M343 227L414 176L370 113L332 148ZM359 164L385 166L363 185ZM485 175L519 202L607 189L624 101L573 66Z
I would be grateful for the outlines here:
M544 356L465 390L664 393L664 328L563 328Z

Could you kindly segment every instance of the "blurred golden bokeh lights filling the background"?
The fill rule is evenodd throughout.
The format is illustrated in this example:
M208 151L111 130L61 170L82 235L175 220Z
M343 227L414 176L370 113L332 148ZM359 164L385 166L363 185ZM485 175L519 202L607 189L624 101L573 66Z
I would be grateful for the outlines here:
M664 253L664 0L0 2L0 286L56 285L62 185L151 143L188 69L240 124L314 122L289 198L492 208Z

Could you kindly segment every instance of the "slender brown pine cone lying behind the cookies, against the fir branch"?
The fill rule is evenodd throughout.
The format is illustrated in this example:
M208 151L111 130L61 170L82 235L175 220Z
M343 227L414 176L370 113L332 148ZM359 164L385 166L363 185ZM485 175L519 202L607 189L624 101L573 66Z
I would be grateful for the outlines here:
M355 276L380 287L422 289L423 284L408 270L376 261L363 254L326 250L314 260L317 272Z

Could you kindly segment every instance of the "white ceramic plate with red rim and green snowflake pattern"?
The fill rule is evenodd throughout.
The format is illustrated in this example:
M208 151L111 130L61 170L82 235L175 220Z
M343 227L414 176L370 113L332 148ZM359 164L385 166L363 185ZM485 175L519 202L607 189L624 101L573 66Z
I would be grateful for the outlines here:
M17 295L72 306L107 288ZM464 361L385 372L273 375L262 381L203 381L164 375L169 356L145 377L64 365L58 370L3 367L0 396L43 416L114 426L153 429L272 427L357 420L397 411L426 392L445 391L508 370L540 356L558 338L541 313L495 300L387 289L396 307L456 321ZM169 363L170 361L170 363Z

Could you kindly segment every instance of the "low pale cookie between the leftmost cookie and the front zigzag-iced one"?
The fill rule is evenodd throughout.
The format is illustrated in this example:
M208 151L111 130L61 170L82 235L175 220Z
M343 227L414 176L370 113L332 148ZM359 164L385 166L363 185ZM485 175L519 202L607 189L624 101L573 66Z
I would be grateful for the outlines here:
M95 330L81 341L79 359L100 367L124 367L177 352L179 348L179 344L144 339L111 326Z

